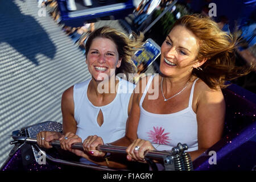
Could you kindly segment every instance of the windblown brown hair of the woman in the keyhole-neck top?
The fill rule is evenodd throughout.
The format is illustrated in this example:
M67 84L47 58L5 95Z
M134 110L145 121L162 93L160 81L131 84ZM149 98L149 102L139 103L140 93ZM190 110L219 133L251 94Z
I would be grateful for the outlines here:
M87 57L90 46L95 38L107 38L112 40L117 46L118 59L122 58L121 65L115 70L115 74L124 73L128 77L128 73L135 73L137 71L136 65L131 60L131 56L134 55L139 48L142 47L142 40L144 36L141 34L137 36L133 34L129 38L123 32L111 27L101 27L93 31L85 44L85 55Z

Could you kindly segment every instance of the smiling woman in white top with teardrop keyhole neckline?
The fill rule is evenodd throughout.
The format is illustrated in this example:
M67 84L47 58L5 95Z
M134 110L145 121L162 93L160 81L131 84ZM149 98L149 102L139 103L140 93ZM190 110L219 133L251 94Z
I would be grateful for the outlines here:
M141 48L142 40L143 36L130 39L110 27L98 28L89 35L85 44L85 62L92 78L65 90L61 100L63 133L38 133L40 147L51 148L51 140L60 140L61 148L84 156L82 163L93 161L106 165L105 160L94 161L82 151L71 150L71 145L91 135L102 137L106 143L125 135L135 85L118 74L135 72L131 56Z

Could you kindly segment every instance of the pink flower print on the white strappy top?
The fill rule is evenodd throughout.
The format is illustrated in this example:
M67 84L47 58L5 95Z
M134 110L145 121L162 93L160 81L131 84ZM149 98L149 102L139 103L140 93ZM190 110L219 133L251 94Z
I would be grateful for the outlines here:
M162 127L153 127L154 131L150 130L147 132L148 137L150 138L152 143L158 144L168 144L168 140L171 140L167 135L170 133L164 133L164 129Z

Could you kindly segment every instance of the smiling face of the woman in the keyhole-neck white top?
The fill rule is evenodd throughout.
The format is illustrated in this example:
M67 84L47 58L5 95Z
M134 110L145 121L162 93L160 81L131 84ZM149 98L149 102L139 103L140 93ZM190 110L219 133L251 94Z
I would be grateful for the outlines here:
M106 38L96 38L92 41L87 54L86 64L92 77L102 81L115 75L115 69L121 65L115 43Z

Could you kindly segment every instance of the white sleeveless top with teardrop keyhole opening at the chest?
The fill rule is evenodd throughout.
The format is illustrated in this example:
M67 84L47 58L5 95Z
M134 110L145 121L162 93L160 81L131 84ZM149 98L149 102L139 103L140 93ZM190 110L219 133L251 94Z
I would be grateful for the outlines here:
M84 141L89 135L98 135L104 143L114 142L125 136L128 105L134 84L119 78L117 94L112 102L105 106L94 106L89 101L87 89L90 80L75 84L73 100L75 104L76 134ZM98 113L102 111L104 122L97 123Z

